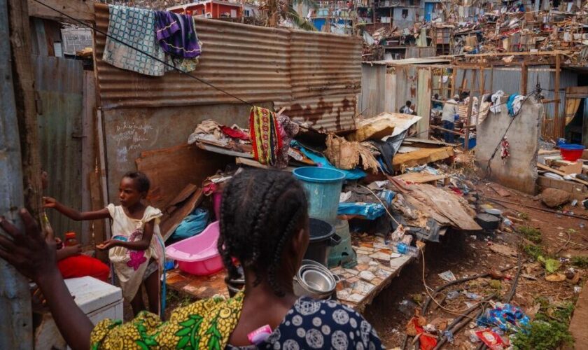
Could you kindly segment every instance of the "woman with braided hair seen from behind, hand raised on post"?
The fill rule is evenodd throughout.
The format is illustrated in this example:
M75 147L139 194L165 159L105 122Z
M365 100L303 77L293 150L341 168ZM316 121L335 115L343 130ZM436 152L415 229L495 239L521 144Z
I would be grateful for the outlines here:
M200 300L162 323L142 312L133 321L95 327L69 296L55 267L55 244L22 211L26 233L4 218L0 257L34 279L73 349L381 349L370 323L338 302L296 297L292 280L309 242L307 198L286 172L248 170L223 192L218 250L245 288L229 300ZM260 337L259 334L265 333Z

